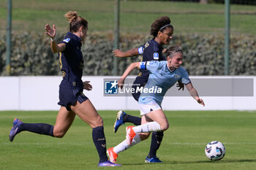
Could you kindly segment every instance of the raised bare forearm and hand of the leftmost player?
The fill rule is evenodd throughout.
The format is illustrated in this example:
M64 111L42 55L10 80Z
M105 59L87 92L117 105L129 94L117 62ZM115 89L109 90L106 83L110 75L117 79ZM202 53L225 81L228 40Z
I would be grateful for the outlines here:
M57 44L56 42L56 27L53 25L53 28L50 28L49 24L45 25L45 34L50 36L52 41L50 42L50 47L53 53L59 53L65 50L66 45L64 43Z

